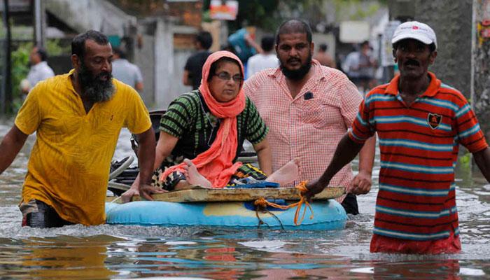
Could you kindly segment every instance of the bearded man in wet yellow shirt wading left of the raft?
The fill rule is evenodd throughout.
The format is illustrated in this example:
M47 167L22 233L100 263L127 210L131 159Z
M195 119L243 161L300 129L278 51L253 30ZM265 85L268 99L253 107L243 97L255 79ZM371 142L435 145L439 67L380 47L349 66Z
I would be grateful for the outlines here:
M113 56L98 31L71 42L73 70L38 83L22 105L15 125L0 144L0 174L36 132L22 188L22 225L37 228L105 221L104 201L111 159L122 127L139 138L141 196L155 158L155 134L139 94L111 76Z

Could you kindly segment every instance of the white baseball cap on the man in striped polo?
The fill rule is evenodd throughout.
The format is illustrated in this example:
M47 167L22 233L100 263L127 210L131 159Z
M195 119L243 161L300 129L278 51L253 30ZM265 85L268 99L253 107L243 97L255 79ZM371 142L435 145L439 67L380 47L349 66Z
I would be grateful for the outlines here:
M434 30L425 23L415 21L403 22L396 27L391 43L396 43L407 38L421 41L426 45L434 43L435 48L437 48L437 38L435 38Z

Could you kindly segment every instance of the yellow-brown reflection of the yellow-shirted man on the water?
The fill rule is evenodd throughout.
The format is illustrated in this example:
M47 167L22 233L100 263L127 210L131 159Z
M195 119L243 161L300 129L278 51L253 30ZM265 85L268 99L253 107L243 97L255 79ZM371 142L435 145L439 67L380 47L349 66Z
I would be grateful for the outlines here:
M109 278L117 272L112 272L104 262L107 247L115 241L118 238L109 236L3 239L0 276Z

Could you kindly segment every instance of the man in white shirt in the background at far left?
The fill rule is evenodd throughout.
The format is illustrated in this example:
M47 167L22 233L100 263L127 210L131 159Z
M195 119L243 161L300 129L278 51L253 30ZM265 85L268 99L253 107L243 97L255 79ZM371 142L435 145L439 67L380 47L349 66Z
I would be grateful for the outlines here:
M46 59L48 58L48 52L44 48L34 47L29 55L29 62L31 64L31 69L27 74L27 78L22 80L20 87L22 92L27 94L36 83L41 80L45 80L52 76L55 76L55 72L52 71L51 67L48 66Z

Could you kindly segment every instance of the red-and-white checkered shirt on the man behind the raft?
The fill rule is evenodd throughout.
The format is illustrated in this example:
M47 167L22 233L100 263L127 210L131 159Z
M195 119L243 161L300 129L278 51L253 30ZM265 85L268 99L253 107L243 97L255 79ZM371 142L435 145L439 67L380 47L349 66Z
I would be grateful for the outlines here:
M314 75L294 99L279 68L260 71L244 85L245 93L269 127L272 169L300 158L298 181L323 174L363 100L341 71L321 66L315 59L311 69ZM351 165L346 165L330 186L346 187L352 179Z

